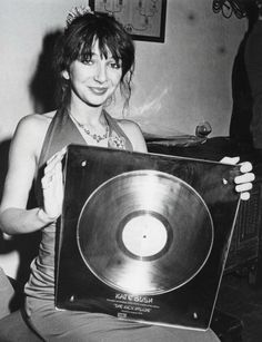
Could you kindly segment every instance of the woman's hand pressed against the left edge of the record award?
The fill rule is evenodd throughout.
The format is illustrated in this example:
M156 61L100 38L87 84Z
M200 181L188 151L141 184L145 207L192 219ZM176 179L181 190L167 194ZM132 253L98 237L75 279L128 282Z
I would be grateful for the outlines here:
M54 154L44 168L44 176L41 179L43 190L43 208L39 216L47 222L56 221L62 213L63 203L63 175L62 159L67 148ZM40 209L41 211L41 209Z

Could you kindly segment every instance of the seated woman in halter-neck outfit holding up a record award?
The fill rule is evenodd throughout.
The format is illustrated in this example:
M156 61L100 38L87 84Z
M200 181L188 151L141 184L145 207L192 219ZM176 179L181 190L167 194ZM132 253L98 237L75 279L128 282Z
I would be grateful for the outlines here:
M147 152L134 123L115 120L104 110L118 87L125 102L130 97L134 47L119 22L89 11L71 14L56 65L62 80L61 105L57 113L31 115L19 123L0 214L2 231L8 234L42 231L39 255L24 290L30 324L47 341L218 341L210 330L151 326L54 309L54 240L63 198L64 146L74 143ZM253 174L246 173L250 164L242 169L245 174L235 179L236 190L248 198ZM34 179L39 207L26 209Z

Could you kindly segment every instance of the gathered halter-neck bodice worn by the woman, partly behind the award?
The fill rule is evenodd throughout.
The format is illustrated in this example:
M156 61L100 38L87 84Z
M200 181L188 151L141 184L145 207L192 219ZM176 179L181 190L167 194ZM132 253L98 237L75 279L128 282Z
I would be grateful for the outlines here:
M109 125L109 139L111 147L118 148L118 141L127 150L133 150L132 144L118 125L118 121L104 111ZM39 173L36 182L36 195L39 205L42 203L41 177L46 162L57 152L70 144L87 145L75 124L69 114L58 110L51 120L46 134L39 159ZM31 275L26 284L27 296L44 300L54 300L54 250L57 225L52 223L46 226L41 233L39 254L31 263Z

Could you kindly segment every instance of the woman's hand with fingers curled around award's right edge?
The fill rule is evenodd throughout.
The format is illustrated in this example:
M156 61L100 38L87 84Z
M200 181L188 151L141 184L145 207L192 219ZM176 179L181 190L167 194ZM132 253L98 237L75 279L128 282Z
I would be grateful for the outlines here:
M224 157L221 163L226 163L231 165L238 164L240 157ZM252 164L250 162L243 162L240 164L241 175L234 178L235 190L240 193L240 198L248 201L250 198L250 190L253 187L252 182L254 180L254 174L252 173Z

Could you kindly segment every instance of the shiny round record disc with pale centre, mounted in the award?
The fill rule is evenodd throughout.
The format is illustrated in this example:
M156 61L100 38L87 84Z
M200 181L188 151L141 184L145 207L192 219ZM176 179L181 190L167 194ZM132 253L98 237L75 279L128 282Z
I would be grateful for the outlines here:
M101 184L79 216L77 241L87 267L132 294L170 292L193 279L213 244L202 197L158 170L120 174Z

